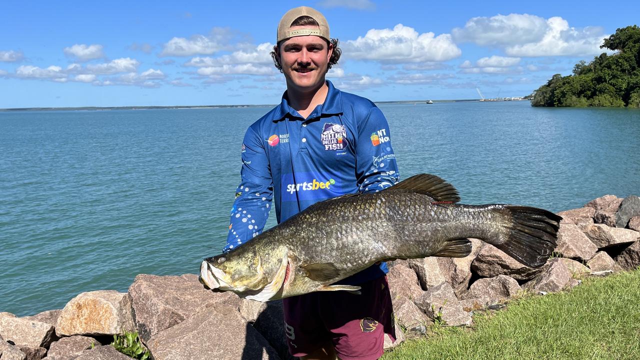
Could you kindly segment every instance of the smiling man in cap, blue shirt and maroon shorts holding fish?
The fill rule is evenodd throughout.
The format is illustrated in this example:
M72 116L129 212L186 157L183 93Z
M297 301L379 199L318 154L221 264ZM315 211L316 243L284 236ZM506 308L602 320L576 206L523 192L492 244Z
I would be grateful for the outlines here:
M244 136L242 182L225 251L262 231L272 199L280 223L315 202L397 183L396 156L382 112L325 80L340 58L337 44L324 16L312 8L294 8L280 20L271 55L287 91L280 105ZM284 299L291 354L378 359L385 332L394 331L386 273L381 263L339 282L361 286L361 295L330 291Z

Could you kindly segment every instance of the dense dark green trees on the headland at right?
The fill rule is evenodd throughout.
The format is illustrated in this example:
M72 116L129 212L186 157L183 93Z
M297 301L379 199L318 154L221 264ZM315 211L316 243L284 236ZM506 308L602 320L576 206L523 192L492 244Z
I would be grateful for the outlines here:
M534 92L531 106L640 108L640 28L617 29L600 48L617 53L582 60L572 75L555 74Z

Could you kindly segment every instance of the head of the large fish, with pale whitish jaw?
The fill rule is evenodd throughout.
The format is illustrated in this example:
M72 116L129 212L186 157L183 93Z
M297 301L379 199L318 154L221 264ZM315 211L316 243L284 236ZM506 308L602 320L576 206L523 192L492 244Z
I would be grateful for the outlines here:
M284 284L288 250L247 245L253 244L204 259L200 282L211 290L232 291L246 299L271 299Z

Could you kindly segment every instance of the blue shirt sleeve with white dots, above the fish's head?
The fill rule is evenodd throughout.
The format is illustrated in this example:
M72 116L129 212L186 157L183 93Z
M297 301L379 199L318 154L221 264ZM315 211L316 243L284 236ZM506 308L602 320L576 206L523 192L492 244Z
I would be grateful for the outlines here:
M264 141L250 127L242 145L241 183L231 208L227 252L255 238L264 229L273 199L273 179Z

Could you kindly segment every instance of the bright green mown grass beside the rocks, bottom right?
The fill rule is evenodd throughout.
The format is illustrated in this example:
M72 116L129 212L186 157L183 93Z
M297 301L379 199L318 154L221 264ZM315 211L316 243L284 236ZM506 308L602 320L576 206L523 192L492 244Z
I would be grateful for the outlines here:
M640 359L640 269L588 278L573 290L527 295L472 328L431 327L392 359Z

